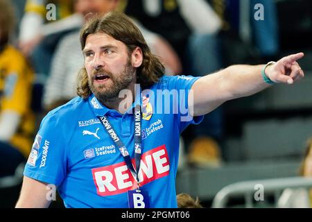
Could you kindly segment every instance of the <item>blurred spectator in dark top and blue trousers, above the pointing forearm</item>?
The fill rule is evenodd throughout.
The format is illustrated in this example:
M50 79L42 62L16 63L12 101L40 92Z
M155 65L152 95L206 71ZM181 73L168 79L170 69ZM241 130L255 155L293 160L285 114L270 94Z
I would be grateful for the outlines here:
M277 59L279 33L275 1L207 1L222 20L219 37L224 66Z

